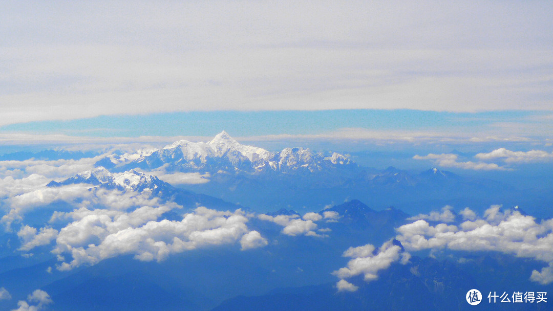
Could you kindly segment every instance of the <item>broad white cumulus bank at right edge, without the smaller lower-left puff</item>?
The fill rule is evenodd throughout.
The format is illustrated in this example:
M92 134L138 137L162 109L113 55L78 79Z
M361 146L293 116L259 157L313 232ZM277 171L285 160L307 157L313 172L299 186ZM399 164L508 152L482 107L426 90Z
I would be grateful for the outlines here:
M533 271L531 280L540 283L553 281L553 219L536 223L531 216L516 210L501 212L499 205L492 205L484 212L483 218L466 220L459 226L445 223L431 226L425 220L418 220L400 226L397 231L396 239L409 251L444 248L498 251L544 261L549 266L541 272Z

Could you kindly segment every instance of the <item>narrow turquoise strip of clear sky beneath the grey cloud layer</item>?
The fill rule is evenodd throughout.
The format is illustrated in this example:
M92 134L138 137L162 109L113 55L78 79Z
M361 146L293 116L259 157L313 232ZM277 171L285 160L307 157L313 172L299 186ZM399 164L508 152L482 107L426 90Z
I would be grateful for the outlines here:
M438 133L471 129L489 133L494 131L497 123L524 125L541 114L531 111L450 113L407 109L174 112L18 123L4 125L0 131L100 137L211 136L221 130L236 136L314 135L345 128ZM499 130L495 131L496 135L499 134Z

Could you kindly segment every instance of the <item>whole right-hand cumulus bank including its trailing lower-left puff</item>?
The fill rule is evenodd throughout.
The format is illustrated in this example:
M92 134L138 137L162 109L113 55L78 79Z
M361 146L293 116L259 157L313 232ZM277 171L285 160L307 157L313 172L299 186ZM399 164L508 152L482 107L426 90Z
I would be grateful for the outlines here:
M500 205L492 205L478 217L471 209L465 208L460 213L461 223L442 222L434 226L426 220L451 220L447 212L430 213L413 223L396 229L395 237L403 245L394 245L392 241L384 243L379 249L367 244L350 247L343 256L352 257L340 270L333 272L340 282L347 278L364 275L365 281L378 277L378 271L388 268L393 262L406 263L409 253L420 250L462 250L462 251L497 251L517 257L530 258L546 262L548 265L541 271L534 270L530 280L541 284L553 282L553 219L537 223L531 216L523 215L518 210L502 210ZM434 217L431 217L434 215ZM445 215L445 217L444 217ZM438 221L438 220L434 220ZM349 283L337 284L338 290L352 291Z

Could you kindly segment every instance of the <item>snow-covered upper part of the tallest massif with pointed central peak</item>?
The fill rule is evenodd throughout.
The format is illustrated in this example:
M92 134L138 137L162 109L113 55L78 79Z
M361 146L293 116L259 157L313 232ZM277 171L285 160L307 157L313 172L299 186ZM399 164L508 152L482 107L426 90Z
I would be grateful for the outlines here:
M133 168L155 170L164 167L167 171L180 172L317 172L338 167L357 167L347 157L317 154L309 149L285 148L270 152L263 148L242 145L226 131L217 134L207 143L187 140L175 141L162 149L141 151L135 155L110 155L97 162L110 170L125 171Z

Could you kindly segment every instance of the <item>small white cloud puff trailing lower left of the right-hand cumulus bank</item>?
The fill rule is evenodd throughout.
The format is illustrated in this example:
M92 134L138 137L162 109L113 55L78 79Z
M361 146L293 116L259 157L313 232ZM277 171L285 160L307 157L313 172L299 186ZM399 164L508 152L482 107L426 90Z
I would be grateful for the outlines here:
M332 272L340 278L336 284L338 291L356 291L357 287L345 281L346 278L363 275L364 280L369 282L377 280L378 271L387 269L393 262L400 262L405 265L410 255L401 249L401 246L389 240L382 244L378 250L371 244L359 247L349 247L343 254L344 257L353 259L347 263L347 267Z

